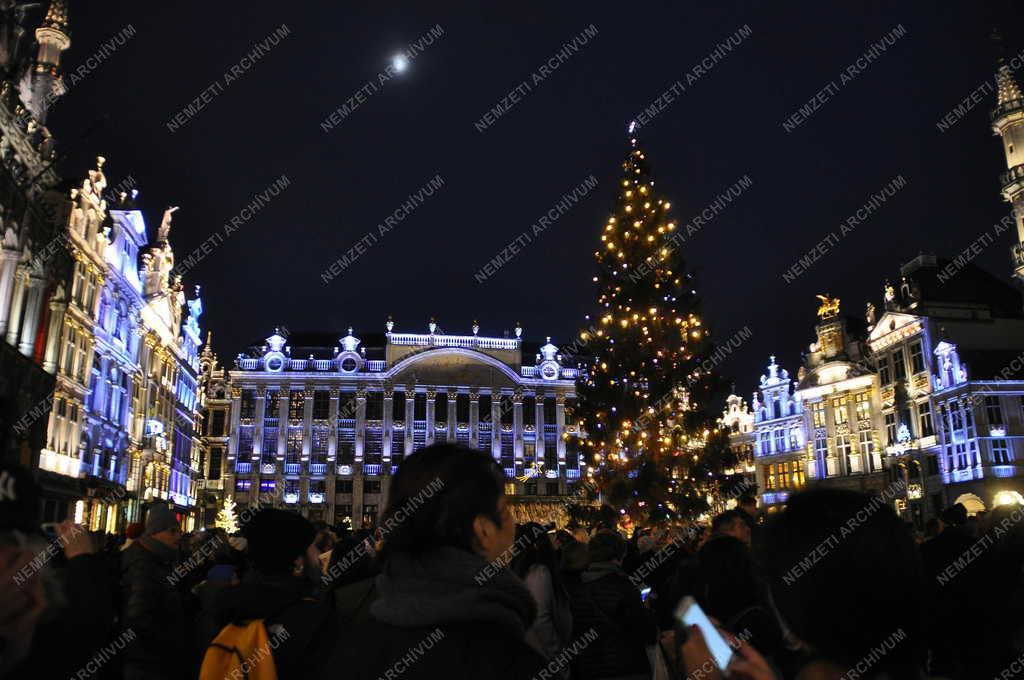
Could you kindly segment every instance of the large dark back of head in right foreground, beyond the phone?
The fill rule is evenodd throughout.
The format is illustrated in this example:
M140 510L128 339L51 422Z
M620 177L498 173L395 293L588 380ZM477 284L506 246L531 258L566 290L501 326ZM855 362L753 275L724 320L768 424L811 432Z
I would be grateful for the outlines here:
M882 498L795 494L767 526L763 566L783 621L815 653L850 668L888 643L873 673L904 677L920 666L919 551Z

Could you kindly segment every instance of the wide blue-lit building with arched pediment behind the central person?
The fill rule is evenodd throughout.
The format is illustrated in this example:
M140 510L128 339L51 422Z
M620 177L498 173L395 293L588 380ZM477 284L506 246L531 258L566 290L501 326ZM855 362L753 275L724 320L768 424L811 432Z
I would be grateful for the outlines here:
M337 341L275 331L240 354L226 379L212 363L207 488L242 508L373 525L400 462L453 441L490 452L520 500L574 494L579 431L567 414L578 369L562 366L550 339L524 360L521 328L504 338L478 331L449 335L431 322L428 333L397 333L390 320L367 340L351 329Z

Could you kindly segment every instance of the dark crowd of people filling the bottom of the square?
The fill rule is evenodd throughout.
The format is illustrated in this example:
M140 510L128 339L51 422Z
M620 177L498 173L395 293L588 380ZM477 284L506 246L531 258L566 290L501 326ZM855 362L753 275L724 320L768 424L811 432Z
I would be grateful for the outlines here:
M915 536L877 497L753 497L709 525L517 525L486 454L427 447L379 527L283 509L182 536L164 505L122 540L45 536L0 467L0 677L1024 677L1024 508L948 508ZM692 598L731 647L679 621Z

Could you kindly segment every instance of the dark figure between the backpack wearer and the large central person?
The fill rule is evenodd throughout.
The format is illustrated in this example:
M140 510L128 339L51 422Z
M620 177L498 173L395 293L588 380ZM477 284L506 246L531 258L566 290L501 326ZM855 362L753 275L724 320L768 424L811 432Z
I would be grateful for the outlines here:
M324 579L340 626L360 626L371 620L378 571L369 537L349 535L335 545Z

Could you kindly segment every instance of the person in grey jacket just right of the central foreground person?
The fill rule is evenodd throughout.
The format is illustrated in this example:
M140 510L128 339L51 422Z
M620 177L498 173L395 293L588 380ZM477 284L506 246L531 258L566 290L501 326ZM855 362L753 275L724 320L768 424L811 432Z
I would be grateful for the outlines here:
M537 620L526 631L526 641L548 658L554 658L569 644L572 634L568 594L555 561L555 550L548 533L536 522L520 524L516 528L515 544L519 552L512 559L510 568L526 584L537 604ZM559 672L567 678L568 666L562 667Z

